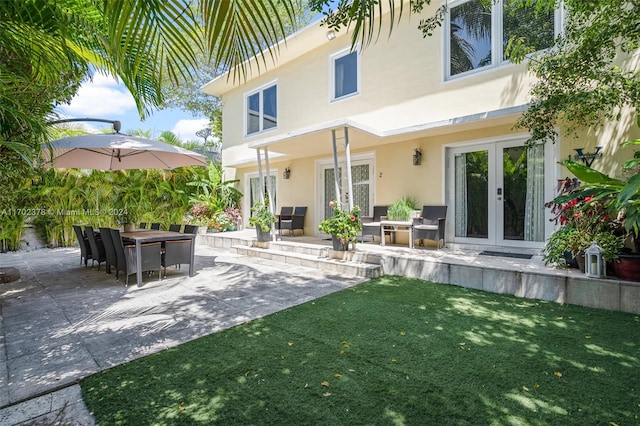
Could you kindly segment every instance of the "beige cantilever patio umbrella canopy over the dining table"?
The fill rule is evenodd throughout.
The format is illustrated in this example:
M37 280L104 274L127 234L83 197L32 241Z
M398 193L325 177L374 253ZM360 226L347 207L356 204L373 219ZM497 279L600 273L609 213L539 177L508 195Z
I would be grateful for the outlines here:
M43 144L42 150L45 167L127 170L207 165L207 157L196 152L120 133L58 139Z

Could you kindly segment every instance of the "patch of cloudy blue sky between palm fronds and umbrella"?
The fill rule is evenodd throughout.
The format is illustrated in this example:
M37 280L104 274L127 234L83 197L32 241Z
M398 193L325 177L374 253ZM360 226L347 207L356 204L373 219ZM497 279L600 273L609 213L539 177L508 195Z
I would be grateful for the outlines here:
M209 120L194 117L191 113L179 109L155 111L146 120L141 121L136 104L129 91L112 77L96 73L93 81L82 85L69 105L59 106L56 111L66 118L103 118L120 120L122 133L131 129L151 130L156 138L165 130L170 130L183 141L199 140L195 132L207 126ZM86 122L80 123L89 130L111 128L110 124Z

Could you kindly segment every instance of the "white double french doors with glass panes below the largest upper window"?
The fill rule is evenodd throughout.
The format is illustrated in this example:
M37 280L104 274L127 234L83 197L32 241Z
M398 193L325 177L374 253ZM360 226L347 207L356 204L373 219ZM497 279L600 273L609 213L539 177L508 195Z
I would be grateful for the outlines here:
M453 241L541 247L549 179L544 145L523 139L451 147L447 182Z

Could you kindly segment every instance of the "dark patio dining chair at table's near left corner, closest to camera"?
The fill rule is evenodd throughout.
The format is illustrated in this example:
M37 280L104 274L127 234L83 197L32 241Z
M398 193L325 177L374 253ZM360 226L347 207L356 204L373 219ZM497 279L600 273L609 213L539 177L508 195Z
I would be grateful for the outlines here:
M124 285L129 285L129 275L136 273L136 246L124 245L122 243L122 237L120 236L119 229L111 229L111 241L116 251L116 280L120 278L120 272L124 272L125 281ZM162 278L161 272L161 259L160 259L161 244L147 243L142 244L140 251L142 254L142 270L145 271L158 271L158 280Z

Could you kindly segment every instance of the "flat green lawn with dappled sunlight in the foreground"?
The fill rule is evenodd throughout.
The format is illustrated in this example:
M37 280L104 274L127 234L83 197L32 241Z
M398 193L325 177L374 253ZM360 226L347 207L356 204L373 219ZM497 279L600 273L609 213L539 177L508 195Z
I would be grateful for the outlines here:
M385 276L82 391L104 425L637 425L640 318Z

